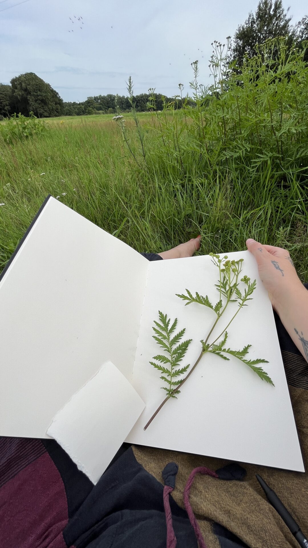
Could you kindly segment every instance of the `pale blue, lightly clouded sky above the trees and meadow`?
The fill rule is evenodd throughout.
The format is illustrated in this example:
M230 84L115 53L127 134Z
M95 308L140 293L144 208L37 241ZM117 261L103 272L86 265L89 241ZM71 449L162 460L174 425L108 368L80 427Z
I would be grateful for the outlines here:
M0 0L0 82L35 72L64 101L108 93L189 92L191 62L211 83L211 42L233 36L258 0ZM293 0L292 23L307 13ZM79 18L79 20L78 20ZM82 19L81 19L82 18ZM73 22L72 22L73 21Z

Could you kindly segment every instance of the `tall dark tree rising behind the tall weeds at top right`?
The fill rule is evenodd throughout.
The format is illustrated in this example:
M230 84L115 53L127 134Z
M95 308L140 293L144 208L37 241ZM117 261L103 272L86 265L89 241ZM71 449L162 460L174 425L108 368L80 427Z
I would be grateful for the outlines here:
M256 44L263 44L268 38L289 36L290 44L293 41L288 11L284 10L282 0L260 0L256 12L250 12L243 25L237 27L233 39L231 60L237 65L243 65L244 54L249 58L256 55ZM274 52L275 56L275 52Z

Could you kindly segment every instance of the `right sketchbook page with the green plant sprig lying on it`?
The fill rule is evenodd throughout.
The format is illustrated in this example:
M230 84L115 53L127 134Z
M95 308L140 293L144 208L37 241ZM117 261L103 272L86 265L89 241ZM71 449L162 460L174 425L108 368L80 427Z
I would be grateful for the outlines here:
M169 399L143 430L166 396L159 371L149 364L153 356L162 353L152 339L158 310L172 321L178 317L179 330L186 327L185 338L193 339L193 343L182 363L193 364L201 351L199 340L209 332L216 316L205 306L184 306L175 293L185 293L188 288L193 294L208 294L214 303L219 297L214 288L218 269L209 256L151 262L133 373L133 385L146 408L126 441L304 471L270 300L254 257L248 251L228 256L244 259L243 273L256 278L257 287L253 300L230 325L226 346L239 350L251 344L249 357L269 361L261 366L275 387L233 356L224 361L208 354L202 357L178 399ZM237 306L229 305L209 342L223 331Z

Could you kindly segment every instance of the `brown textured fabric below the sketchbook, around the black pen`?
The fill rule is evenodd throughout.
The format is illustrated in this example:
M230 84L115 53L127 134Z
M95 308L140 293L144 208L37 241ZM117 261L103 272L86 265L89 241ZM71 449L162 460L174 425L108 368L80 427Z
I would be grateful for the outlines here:
M278 320L279 322L279 320ZM277 322L276 322L277 323ZM290 344L283 326L277 325L286 370L290 398L298 429L305 470L308 468L308 364ZM291 349L288 351L286 349ZM135 458L162 482L162 470L170 461L179 466L173 492L176 503L184 507L182 492L190 472L197 466L217 470L229 461L206 456L177 453L163 449L133 446ZM255 478L259 473L308 535L308 474L288 472L239 463L247 471L243 480L225 481L197 475L191 488L190 501L208 548L218 548L212 522L219 523L252 548L298 548L286 524L266 499ZM163 482L162 482L163 483Z

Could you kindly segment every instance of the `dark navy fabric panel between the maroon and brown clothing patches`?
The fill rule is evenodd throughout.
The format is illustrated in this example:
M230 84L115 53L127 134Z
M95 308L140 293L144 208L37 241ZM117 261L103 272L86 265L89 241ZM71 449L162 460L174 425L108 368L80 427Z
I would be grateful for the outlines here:
M197 548L193 528L170 497L177 548ZM166 548L163 486L129 448L100 478L64 529L76 548Z

